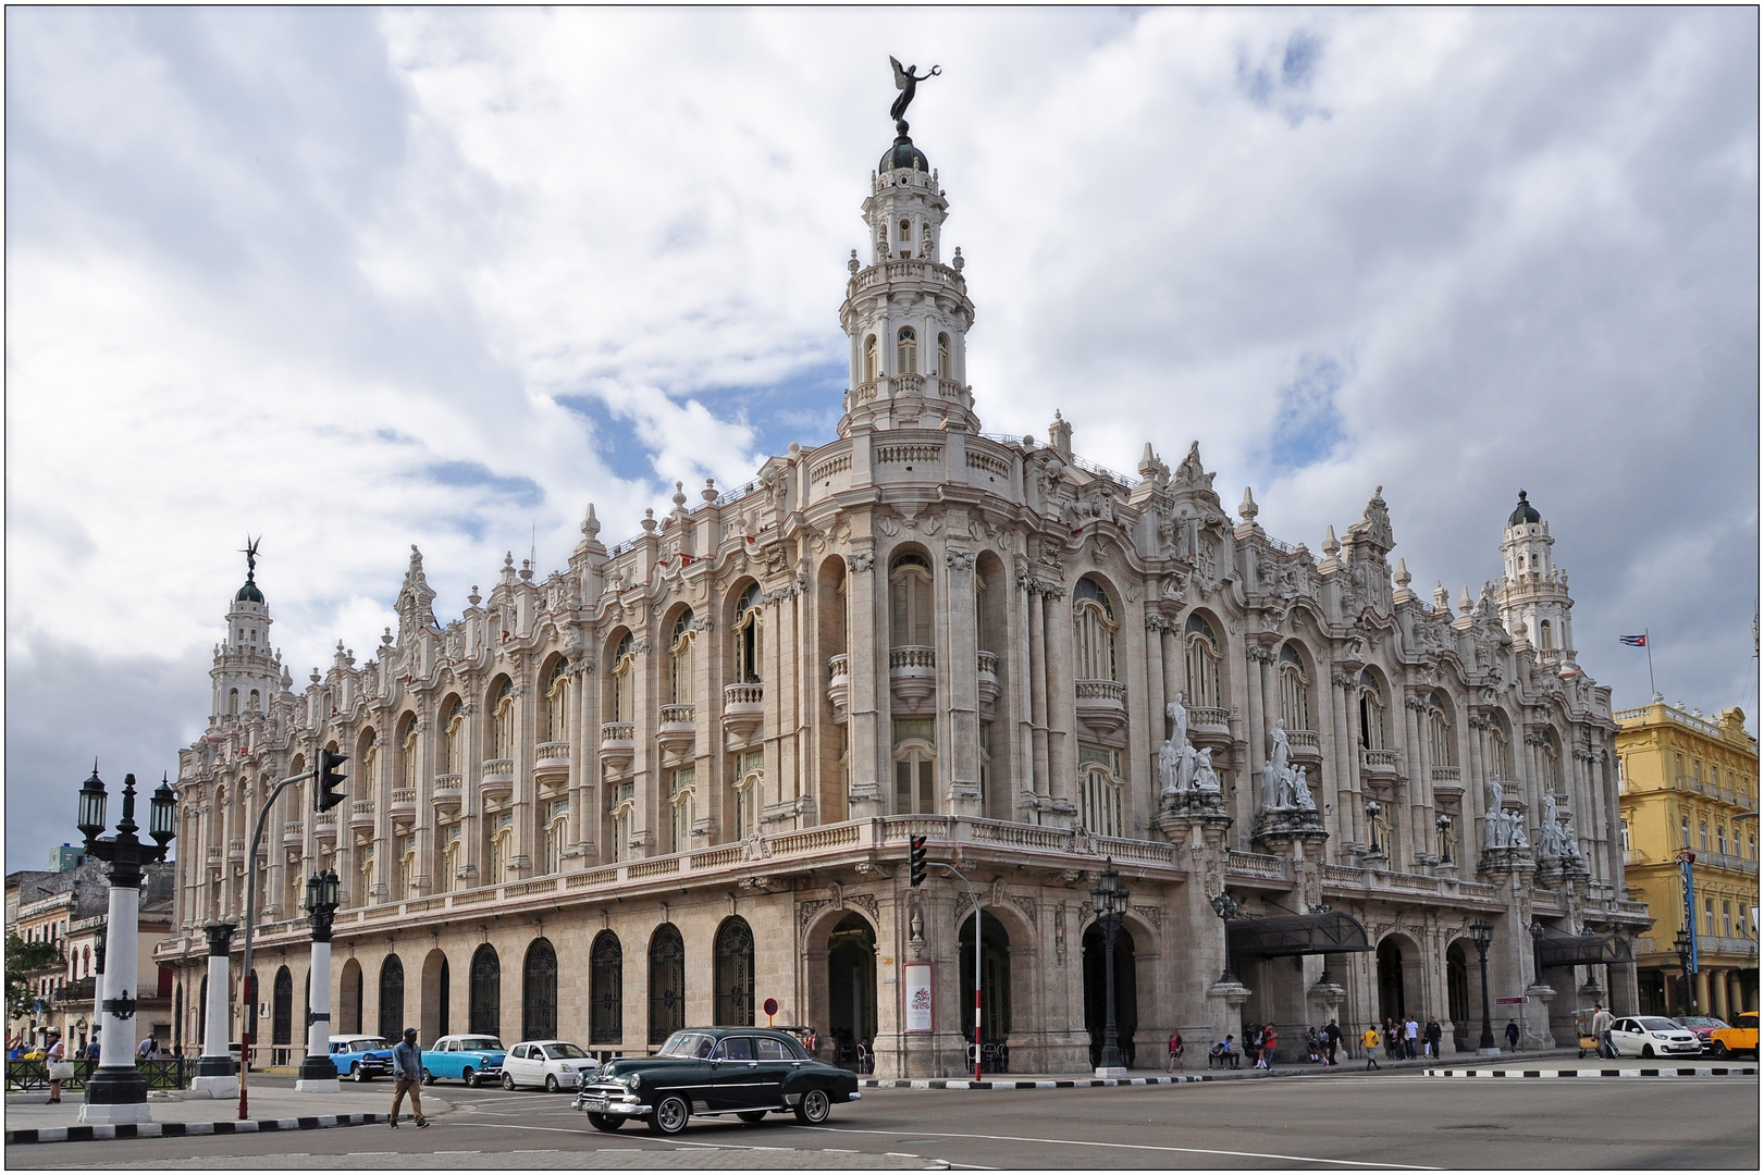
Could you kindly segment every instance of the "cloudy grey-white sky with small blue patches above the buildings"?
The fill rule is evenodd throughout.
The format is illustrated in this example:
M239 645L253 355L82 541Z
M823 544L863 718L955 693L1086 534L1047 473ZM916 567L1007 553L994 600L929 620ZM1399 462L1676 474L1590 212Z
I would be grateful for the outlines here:
M1648 630L1757 729L1755 9L5 21L7 868L176 766L247 533L303 685L411 543L445 623L831 439L889 53L988 430L1198 439L1312 550L1383 485L1454 602L1524 487L1616 704Z

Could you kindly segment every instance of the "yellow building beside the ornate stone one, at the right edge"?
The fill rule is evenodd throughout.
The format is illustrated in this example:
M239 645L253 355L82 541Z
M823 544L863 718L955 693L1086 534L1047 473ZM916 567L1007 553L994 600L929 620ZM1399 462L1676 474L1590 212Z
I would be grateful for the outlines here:
M1625 879L1655 919L1653 933L1635 944L1641 1007L1723 1020L1757 1011L1759 743L1746 734L1746 716L1734 707L1708 722L1658 693L1614 716ZM1686 850L1697 940L1688 1009L1678 946Z

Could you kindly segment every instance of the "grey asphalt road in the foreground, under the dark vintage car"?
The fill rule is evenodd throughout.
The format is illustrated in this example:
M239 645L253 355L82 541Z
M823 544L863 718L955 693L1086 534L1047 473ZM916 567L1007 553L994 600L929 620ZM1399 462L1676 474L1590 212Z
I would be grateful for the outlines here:
M1752 1168L1757 1078L1411 1073L1069 1090L864 1090L824 1127L706 1119L603 1134L570 1096L459 1090L453 1113L298 1134L7 1147L11 1168Z

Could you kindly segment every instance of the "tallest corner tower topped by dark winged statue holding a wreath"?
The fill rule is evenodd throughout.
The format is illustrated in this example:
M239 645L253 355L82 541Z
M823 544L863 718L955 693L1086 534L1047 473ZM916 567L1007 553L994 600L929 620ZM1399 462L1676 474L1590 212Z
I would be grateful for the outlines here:
M896 64L896 78L905 78ZM919 81L923 78L914 78ZM905 99L912 90L901 85ZM840 307L850 339L850 390L840 436L864 429L977 429L967 383L974 303L961 279L961 249L944 265L949 205L937 171L907 134L896 102L894 145L870 176L864 222L870 265L857 259Z

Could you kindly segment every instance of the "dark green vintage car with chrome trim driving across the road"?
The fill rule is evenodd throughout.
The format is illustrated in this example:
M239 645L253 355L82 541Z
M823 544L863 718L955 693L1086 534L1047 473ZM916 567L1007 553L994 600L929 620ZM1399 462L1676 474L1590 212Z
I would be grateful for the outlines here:
M677 1134L691 1115L732 1113L759 1122L794 1113L818 1126L836 1101L857 1101L857 1074L810 1057L776 1029L684 1029L654 1057L621 1057L580 1089L575 1108L598 1131L642 1119L656 1134Z

